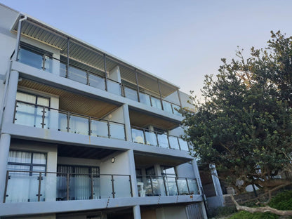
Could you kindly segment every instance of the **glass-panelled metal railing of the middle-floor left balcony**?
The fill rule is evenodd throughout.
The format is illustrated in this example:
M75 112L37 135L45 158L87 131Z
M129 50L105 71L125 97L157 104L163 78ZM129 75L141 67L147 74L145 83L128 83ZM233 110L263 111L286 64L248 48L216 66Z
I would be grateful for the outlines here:
M14 124L126 140L125 124L17 100Z

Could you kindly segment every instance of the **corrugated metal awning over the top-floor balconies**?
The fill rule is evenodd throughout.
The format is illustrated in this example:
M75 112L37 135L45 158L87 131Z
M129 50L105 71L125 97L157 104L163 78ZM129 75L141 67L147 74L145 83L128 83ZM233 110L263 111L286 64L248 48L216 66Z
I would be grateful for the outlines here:
M15 21L11 32L18 32L18 20ZM34 18L27 16L27 20L22 22L21 29L22 36L25 36L36 41L40 41L43 44L53 46L60 50L60 54L67 56L67 40L69 39L69 58L88 65L88 67L105 72L104 55L106 57L107 72L110 72L114 67L119 65L121 72L121 79L128 81L131 84L136 84L135 69L138 75L138 84L141 88L151 91L152 93L159 94L159 88L157 86L157 80L160 83L161 95L165 98L171 93L179 89L171 82L154 76L150 72L142 70L130 63L121 60L110 53L106 53L95 46L86 44L84 41L76 39L74 36L69 36L58 29L55 29L49 25L39 22Z

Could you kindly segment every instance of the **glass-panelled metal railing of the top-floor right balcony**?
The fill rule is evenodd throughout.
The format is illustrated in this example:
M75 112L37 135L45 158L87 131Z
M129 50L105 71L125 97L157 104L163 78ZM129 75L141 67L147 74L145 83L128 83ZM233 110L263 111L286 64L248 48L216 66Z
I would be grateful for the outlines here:
M156 107L157 109L164 110L166 112L170 112L178 116L182 116L182 114L178 112L178 110L180 110L180 106L176 105L173 102L163 99L161 100L160 98L157 98L154 95L150 95L142 91L139 91L138 98L138 92L135 89L129 88L128 86L123 86L123 88L124 95L126 98L135 100L137 102L142 102L143 104L148 105L150 107Z

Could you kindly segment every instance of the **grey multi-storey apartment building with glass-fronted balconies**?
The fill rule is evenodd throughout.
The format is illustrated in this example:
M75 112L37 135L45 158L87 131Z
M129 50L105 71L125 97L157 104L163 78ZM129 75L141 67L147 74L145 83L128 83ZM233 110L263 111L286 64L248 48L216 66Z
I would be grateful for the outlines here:
M0 5L0 217L206 218L187 94Z

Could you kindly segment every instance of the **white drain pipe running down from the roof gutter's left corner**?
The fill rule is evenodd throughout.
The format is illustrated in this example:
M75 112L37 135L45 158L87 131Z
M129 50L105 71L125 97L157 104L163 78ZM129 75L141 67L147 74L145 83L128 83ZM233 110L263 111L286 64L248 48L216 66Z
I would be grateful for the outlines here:
M20 36L21 36L21 27L22 27L22 21L27 20L27 15L20 15L20 20L18 20L18 34L16 37L16 46L15 46L15 52L14 57L12 60L17 61L18 60L18 53L19 53L19 46L20 46ZM4 98L2 98L1 101L1 108L0 108L0 130L2 130L2 119L3 119L3 114L5 110L5 105L6 105L6 95L7 95L7 89L8 89L8 82L9 82L9 77L11 73L11 65L12 65L12 60L9 63L9 68L8 72L6 72L6 79L4 81L5 87L4 87Z

